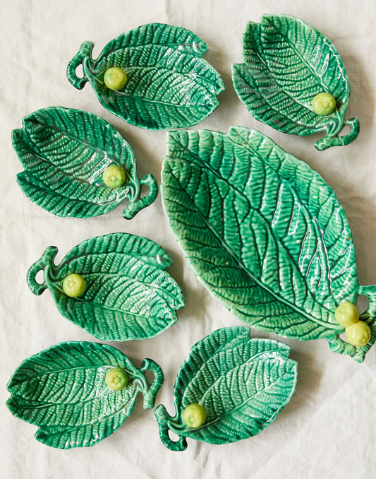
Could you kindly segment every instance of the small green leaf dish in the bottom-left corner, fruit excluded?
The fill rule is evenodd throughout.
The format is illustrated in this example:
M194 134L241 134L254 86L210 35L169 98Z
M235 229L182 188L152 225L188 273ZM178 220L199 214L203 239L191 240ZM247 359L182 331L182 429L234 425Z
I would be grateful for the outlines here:
M107 373L121 368L123 389L107 385ZM145 372L154 373L152 384ZM35 439L59 449L88 447L108 437L131 415L138 393L154 407L162 369L150 359L137 369L126 355L106 344L60 343L29 357L13 373L6 402L11 413L39 427ZM111 384L111 383L110 383Z

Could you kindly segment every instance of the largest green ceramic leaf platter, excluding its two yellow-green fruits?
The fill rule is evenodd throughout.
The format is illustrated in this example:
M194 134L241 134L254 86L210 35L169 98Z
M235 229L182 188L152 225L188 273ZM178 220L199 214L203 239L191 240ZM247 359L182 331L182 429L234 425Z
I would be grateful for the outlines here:
M358 362L376 339L376 286L360 286L334 191L259 131L173 131L162 169L164 210L199 280L236 317ZM340 338L344 300L368 297L370 341Z

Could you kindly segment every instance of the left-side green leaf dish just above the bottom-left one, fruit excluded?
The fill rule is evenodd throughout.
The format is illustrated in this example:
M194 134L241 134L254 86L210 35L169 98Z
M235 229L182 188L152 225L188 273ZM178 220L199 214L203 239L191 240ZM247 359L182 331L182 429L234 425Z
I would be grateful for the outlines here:
M104 341L128 341L157 336L176 323L184 306L181 289L165 268L171 259L150 239L112 233L85 240L56 266L56 247L48 247L29 271L35 295L47 288L59 312ZM36 275L43 271L43 283ZM71 274L85 281L83 292L71 297L63 281Z

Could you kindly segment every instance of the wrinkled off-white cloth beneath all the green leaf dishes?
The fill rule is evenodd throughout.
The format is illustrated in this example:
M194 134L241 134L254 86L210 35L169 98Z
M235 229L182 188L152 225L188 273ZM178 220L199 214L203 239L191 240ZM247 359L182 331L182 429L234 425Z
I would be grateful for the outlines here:
M231 63L241 61L241 39L248 20L262 13L290 13L327 35L341 54L351 82L348 117L360 120L351 145L322 153L320 137L279 133L257 122L236 97ZM133 220L111 213L85 220L57 218L31 203L16 184L21 171L11 147L11 130L25 115L61 105L93 112L113 124L130 143L139 176L151 172L160 182L165 131L145 131L114 117L87 84L75 90L66 66L83 40L95 42L94 56L121 32L152 22L193 30L210 50L205 59L221 73L226 90L219 108L194 129L227 131L231 124L259 129L282 148L305 160L332 186L344 206L356 245L360 284L376 283L376 8L355 2L287 0L1 1L1 477L44 478L372 478L376 474L376 346L365 362L329 351L327 341L284 341L298 361L298 384L291 402L257 436L224 446L188 439L188 449L171 452L159 440L153 410L140 398L130 418L95 447L61 451L37 442L36 427L13 418L4 403L6 382L20 362L61 341L95 338L61 317L49 292L32 295L28 267L45 247L59 247L60 260L71 247L92 236L131 232L150 237L174 260L169 273L183 289L186 307L178 323L148 341L115 343L140 366L151 357L162 366L164 384L157 397L174 413L172 390L191 346L214 329L241 325L198 282L186 264L158 196ZM253 330L254 336L277 337Z

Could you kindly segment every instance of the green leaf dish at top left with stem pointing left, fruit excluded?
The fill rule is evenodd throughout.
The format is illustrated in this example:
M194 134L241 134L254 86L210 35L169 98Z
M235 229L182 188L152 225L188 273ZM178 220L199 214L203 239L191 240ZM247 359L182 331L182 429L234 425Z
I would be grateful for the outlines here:
M95 60L93 47L83 42L68 64L68 79L78 89L89 81L104 108L130 124L152 130L191 126L218 106L224 83L201 58L207 45L190 30L150 23L111 40ZM82 78L76 74L80 64ZM104 83L114 67L127 78L118 90Z

